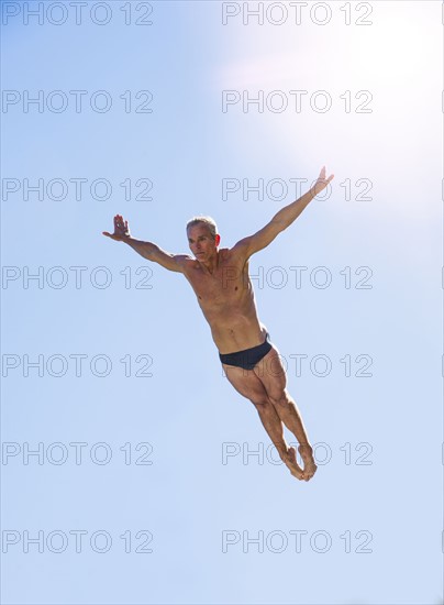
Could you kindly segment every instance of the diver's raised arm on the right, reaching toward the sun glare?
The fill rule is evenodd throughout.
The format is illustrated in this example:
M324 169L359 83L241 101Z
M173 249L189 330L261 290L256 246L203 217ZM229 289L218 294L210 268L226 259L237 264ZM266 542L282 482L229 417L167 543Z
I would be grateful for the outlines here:
M330 175L329 178L325 179L325 166L323 166L318 180L307 194L303 194L299 199L284 207L263 229L257 231L254 235L248 235L238 241L234 248L243 249L246 257L266 248L273 242L278 233L287 229L287 227L299 217L302 210L318 194L325 189L333 177L334 175Z

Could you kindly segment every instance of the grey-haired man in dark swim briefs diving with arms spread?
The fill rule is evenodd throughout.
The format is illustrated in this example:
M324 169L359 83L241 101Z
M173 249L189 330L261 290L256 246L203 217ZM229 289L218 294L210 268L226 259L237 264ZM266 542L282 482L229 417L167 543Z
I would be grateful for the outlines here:
M103 231L103 235L127 243L144 258L185 275L210 324L226 377L256 407L281 460L295 477L303 481L309 481L317 471L313 450L299 410L286 389L286 373L278 350L258 320L248 260L287 229L333 177L325 179L324 166L307 194L279 210L263 229L232 249L219 250L221 238L210 217L195 217L187 223L188 243L195 258L188 254L170 254L152 242L135 240L130 234L127 221L120 215L114 217L114 233ZM288 447L284 438L284 425L299 441L303 469L297 462L295 448Z

